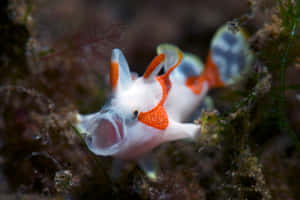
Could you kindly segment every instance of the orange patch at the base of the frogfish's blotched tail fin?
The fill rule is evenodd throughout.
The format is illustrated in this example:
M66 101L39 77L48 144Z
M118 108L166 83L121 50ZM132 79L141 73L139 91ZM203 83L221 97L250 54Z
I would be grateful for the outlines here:
M194 94L200 94L203 88L203 83L207 81L209 88L224 87L224 82L221 80L219 70L214 64L211 53L209 52L206 61L205 69L199 76L192 76L187 78L185 84L190 88Z

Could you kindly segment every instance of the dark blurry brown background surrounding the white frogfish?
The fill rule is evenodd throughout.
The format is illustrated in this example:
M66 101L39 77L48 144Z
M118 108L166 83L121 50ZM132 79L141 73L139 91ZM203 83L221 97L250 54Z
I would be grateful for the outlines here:
M287 128L278 103L276 66L287 41L279 36L278 1L3 0L0 5L0 199L299 199L299 87L283 95ZM220 115L214 122L215 114L205 114L211 116L208 135L218 133L219 139L156 149L161 167L156 182L134 163L111 180L112 159L90 154L70 123L78 111L99 110L110 95L112 48L122 49L131 70L142 75L163 42L205 61L213 34L225 23L249 32L258 61L243 83L209 93ZM294 61L287 66L286 88L299 84ZM272 75L271 90L253 98L249 109L232 110L236 104L244 108L244 98L252 105L263 66ZM223 131L220 116L234 118Z

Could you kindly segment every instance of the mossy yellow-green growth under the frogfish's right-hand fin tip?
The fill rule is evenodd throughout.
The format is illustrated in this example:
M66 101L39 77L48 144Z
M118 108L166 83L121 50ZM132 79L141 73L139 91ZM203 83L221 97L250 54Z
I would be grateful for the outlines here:
M236 103L228 115L203 112L197 123L202 125L200 143L218 146L222 164L215 181L221 190L211 195L225 199L271 199L258 157L249 147L250 133L255 126L253 109L271 88L271 75L265 70L249 95Z

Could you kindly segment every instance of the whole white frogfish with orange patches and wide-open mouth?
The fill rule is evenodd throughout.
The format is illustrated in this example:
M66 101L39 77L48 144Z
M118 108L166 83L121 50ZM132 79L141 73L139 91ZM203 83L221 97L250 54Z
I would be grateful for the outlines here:
M205 65L174 45L161 44L137 77L122 51L113 49L112 96L99 112L78 114L76 127L93 153L123 160L138 160L165 142L198 137L200 125L183 121L211 88L239 80L252 57L244 32L232 32L226 25L215 34Z

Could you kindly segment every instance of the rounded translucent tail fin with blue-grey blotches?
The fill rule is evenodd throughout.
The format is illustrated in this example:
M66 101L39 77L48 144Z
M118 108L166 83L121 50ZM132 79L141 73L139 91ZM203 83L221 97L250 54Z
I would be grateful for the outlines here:
M210 55L226 85L239 81L253 61L246 33L241 28L233 32L228 25L222 26L215 34Z

